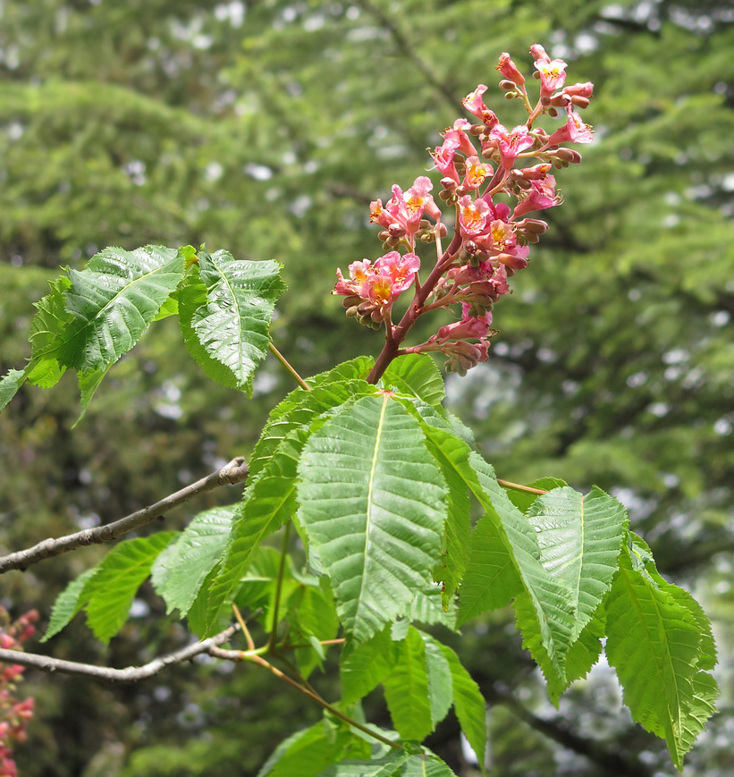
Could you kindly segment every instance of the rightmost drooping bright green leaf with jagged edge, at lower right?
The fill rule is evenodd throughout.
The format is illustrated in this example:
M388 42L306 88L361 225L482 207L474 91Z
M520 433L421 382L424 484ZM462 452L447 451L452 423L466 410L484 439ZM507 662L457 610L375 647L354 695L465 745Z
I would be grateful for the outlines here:
M700 669L702 658L704 666L710 663L709 648L702 652L702 633L688 606L633 564L628 547L619 562L606 601L606 654L633 720L665 739L673 764L682 769L719 693Z

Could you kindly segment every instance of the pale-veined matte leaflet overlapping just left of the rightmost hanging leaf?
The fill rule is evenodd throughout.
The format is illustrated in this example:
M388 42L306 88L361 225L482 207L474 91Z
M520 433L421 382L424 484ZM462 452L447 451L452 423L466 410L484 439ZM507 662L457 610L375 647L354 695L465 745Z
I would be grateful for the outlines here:
M562 486L539 496L527 519L536 529L544 569L569 588L575 641L612 587L627 513L596 486L586 496Z

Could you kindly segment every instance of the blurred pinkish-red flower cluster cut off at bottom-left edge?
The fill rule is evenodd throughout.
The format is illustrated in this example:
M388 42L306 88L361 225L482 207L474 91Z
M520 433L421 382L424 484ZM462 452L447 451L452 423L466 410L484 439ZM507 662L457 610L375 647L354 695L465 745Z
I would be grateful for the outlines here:
M21 650L21 643L36 633L33 623L38 617L38 611L31 610L13 622L0 607L0 647ZM25 741L26 724L33 717L34 700L18 701L14 696L24 669L19 663L0 663L0 777L17 777L13 742Z

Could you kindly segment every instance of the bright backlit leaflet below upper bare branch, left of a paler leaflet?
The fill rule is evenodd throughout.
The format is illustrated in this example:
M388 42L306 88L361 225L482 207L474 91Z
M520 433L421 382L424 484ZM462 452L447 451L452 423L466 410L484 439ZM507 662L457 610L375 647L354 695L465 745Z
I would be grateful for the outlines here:
M109 642L127 620L132 598L175 532L130 539L115 545L97 566L80 597L86 598L87 623L95 637Z

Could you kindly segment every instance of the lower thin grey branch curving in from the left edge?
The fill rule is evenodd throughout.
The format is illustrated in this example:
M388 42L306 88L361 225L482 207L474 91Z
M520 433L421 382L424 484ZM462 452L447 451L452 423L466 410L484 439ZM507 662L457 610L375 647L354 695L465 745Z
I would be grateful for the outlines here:
M72 674L77 677L93 677L96 680L105 680L106 682L137 682L152 677L159 671L163 671L175 663L183 663L193 658L195 655L209 653L218 646L224 644L240 630L239 624L224 629L214 637L204 639L194 645L188 645L177 650L174 653L158 656L150 663L143 666L128 666L125 669L112 669L108 666L95 666L92 663L79 663L76 661L63 661L61 658L51 658L48 655L38 655L35 653L23 653L21 650L0 649L0 661L6 663L20 663L21 666L30 666L33 669L41 671L55 672L60 671L63 674Z

